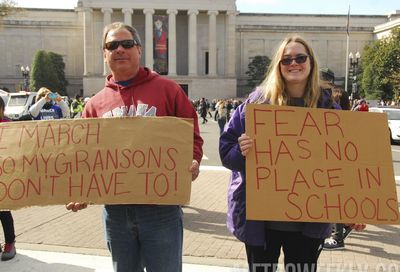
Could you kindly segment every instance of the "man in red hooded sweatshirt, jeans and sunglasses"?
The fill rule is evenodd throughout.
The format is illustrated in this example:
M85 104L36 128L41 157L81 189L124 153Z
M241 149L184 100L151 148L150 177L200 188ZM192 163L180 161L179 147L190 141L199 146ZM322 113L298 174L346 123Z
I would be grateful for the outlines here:
M197 114L175 82L140 67L142 47L137 31L123 23L104 29L103 56L111 75L106 86L85 105L82 116L177 116L194 119L192 180L199 174L203 140ZM132 135L135 137L135 135ZM71 202L78 211L85 203ZM182 210L177 205L105 205L107 246L114 271L182 271Z

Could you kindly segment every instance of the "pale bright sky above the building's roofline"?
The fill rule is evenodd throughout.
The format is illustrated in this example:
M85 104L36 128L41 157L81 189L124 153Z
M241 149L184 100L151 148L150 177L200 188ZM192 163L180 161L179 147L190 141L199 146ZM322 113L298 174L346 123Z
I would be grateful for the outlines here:
M73 8L77 0L15 0L20 7ZM165 0L169 1L169 0ZM190 1L190 0L188 0ZM218 1L218 0L216 0ZM398 0L237 0L240 12L387 15L400 10Z

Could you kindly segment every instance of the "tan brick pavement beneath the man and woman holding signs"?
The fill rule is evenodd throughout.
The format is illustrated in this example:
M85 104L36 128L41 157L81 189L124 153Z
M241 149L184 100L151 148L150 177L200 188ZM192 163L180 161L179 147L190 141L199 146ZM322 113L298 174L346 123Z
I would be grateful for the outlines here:
M191 203L183 207L184 272L246 271L243 244L225 226L229 175L221 167L202 168L193 183ZM0 271L112 271L101 209L90 206L72 213L64 206L50 206L14 211L18 254L0 262ZM322 252L319 271L399 272L400 226L369 225L364 232L353 232L345 250Z

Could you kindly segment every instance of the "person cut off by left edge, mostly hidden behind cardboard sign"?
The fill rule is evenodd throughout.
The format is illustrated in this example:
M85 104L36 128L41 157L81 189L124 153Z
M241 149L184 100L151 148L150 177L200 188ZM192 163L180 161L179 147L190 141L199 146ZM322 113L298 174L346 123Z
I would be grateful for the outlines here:
M4 100L0 98L0 122L8 122L9 120L4 117L4 110L6 106ZM15 230L14 219L10 211L0 211L0 221L3 226L4 232L4 247L1 247L1 260L8 261L15 257L17 250L15 248Z

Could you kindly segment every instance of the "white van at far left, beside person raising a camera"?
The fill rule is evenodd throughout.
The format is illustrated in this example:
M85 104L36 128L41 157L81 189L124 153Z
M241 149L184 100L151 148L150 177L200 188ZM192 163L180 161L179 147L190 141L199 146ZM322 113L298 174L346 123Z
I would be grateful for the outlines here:
M35 104L36 92L10 93L4 115L12 120L29 114L29 108Z

